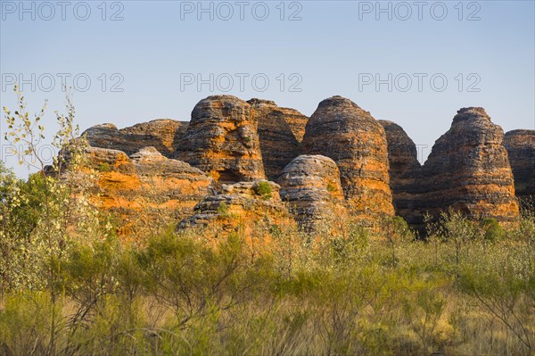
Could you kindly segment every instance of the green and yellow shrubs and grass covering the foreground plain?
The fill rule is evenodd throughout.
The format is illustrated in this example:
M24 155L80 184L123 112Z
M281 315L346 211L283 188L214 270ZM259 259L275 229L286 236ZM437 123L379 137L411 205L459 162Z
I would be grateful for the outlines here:
M452 268L448 236L436 258L433 244L399 239L391 264L391 243L358 226L303 244L287 244L282 225L269 231L276 245L253 258L240 234L209 243L208 230L71 244L56 302L46 289L5 294L0 350L48 353L53 310L60 354L531 352L535 254L524 240L467 240L470 259Z

